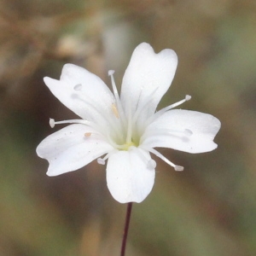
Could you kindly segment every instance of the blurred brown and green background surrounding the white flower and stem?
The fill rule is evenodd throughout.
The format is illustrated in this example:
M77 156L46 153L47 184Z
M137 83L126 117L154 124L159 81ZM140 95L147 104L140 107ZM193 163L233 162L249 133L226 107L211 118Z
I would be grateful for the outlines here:
M161 153L154 189L134 204L126 255L256 255L256 3L251 0L0 0L0 255L119 255L125 205L105 168L47 177L35 148L74 114L49 93L71 62L121 84L142 42L177 52L159 108L222 122L207 154Z

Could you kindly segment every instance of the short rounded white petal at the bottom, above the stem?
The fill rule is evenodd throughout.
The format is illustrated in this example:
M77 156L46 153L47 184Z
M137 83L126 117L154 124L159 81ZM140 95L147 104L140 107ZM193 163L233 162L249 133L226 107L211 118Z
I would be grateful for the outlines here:
M108 159L107 183L120 203L143 201L154 185L154 165L150 154L140 148L118 151Z

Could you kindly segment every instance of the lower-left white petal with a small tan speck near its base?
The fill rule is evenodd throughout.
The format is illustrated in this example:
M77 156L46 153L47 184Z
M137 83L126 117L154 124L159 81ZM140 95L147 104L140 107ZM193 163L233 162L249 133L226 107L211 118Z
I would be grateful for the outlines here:
M49 161L47 175L72 172L113 150L103 138L86 125L68 125L46 137L38 145L39 157Z

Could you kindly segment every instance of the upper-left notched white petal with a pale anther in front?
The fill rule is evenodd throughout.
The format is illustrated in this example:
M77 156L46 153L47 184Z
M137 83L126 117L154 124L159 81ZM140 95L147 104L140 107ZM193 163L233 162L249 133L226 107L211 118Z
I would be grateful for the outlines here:
M83 119L102 122L104 116L113 116L113 93L102 79L83 67L66 64L60 80L46 77L44 83L60 102Z

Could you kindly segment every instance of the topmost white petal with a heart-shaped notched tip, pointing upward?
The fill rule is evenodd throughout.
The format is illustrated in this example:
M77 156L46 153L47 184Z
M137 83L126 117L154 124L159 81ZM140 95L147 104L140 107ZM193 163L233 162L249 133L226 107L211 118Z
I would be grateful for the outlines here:
M144 115L154 113L172 83L176 67L177 55L172 49L164 49L155 54L149 44L139 44L131 55L122 83L121 101L125 112L128 113L127 108L131 108L132 114L148 101Z

